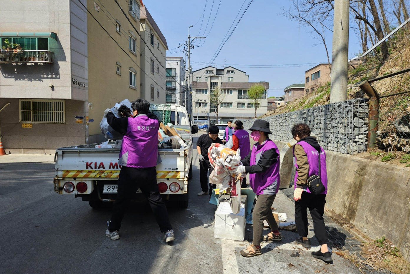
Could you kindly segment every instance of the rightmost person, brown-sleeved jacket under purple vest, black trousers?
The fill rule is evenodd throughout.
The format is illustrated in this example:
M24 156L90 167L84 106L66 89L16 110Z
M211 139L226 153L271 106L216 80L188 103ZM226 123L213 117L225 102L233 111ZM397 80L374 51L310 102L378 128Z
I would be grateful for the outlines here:
M332 252L328 249L328 236L326 234L323 213L328 190L328 177L326 174L326 154L324 149L317 143L315 137L310 136L310 128L306 124L297 124L292 127L292 136L298 142L293 147L294 164L296 174L294 181L295 222L299 233L296 242L306 248L311 248L307 238L307 208L313 220L314 235L321 245L320 250L313 251L312 256L326 263L333 263ZM319 175L320 153L320 175ZM307 188L306 181L312 175L319 175L325 190L314 195Z

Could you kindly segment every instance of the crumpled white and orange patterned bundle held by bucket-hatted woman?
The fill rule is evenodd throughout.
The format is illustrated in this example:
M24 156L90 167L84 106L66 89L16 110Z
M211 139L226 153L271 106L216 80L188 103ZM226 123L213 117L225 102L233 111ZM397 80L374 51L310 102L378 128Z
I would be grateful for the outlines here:
M208 158L214 168L209 182L218 185L219 193L224 190L230 193L232 213L237 214L241 207L241 181L246 174L237 176L235 171L242 165L239 149L234 150L222 144L212 143L208 149Z

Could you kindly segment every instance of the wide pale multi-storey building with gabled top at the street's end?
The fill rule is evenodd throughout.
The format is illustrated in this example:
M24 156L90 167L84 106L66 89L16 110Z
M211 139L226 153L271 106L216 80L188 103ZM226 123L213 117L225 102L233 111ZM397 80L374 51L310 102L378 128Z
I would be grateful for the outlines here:
M195 124L226 123L228 120L248 120L255 117L255 105L248 99L248 89L253 84L262 84L265 88L261 96L257 116L267 112L268 82L248 82L249 75L232 66L225 68L206 67L195 70L192 86L192 116ZM221 99L219 106L210 103L210 91L219 88ZM218 120L216 120L218 107Z

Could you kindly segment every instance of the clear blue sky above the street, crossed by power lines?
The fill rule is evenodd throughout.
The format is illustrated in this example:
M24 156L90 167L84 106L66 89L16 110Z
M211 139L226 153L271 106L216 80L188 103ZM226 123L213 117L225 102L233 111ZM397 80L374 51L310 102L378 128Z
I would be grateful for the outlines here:
M213 0L207 0L204 19L202 13L206 0L157 0L155 4L148 0L144 5L164 34L168 47L167 56L183 56L183 46L178 47L181 41L187 40L188 27L191 27L191 36L205 36L212 25L219 0L214 0L212 15L210 16ZM250 0L245 0L245 9ZM216 52L221 41L227 34L238 14L243 0L221 0L214 25L201 46L191 50L191 65L193 70L206 66ZM190 4L190 5L187 5ZM284 6L285 5L285 6ZM222 68L225 63L249 75L249 82L266 81L270 83L269 96L283 95L283 89L294 83L303 83L305 71L317 63L327 62L326 52L322 44L312 37L311 29L299 27L297 22L292 22L280 16L282 7L289 8L288 1L253 0L245 15L239 22L230 39L225 43L214 63ZM242 14L239 14L239 16ZM238 18L239 18L238 16ZM204 28L209 23L204 33ZM202 22L202 28L200 30ZM332 33L326 34L326 43L331 55ZM198 44L198 43L194 43ZM174 49L174 50L173 50ZM349 35L349 57L354 57L360 51L358 38L351 29ZM330 56L331 59L331 56ZM199 63L203 62L203 63ZM205 63L205 64L204 64ZM312 63L312 64L306 64ZM248 65L273 65L273 64L306 64L294 66L277 66L270 68L255 68Z

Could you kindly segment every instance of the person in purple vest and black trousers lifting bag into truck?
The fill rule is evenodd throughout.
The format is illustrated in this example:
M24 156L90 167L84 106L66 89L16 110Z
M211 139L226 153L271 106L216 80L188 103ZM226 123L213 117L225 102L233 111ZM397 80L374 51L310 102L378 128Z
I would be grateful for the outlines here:
M158 117L149 112L150 103L138 99L131 103L132 117L116 118L114 113L107 113L108 124L123 134L118 164L121 171L118 177L118 192L112 209L111 220L105 235L112 240L120 238L118 230L130 200L138 188L148 200L161 232L165 233L167 243L175 239L169 222L168 211L158 190L157 164L158 155Z

